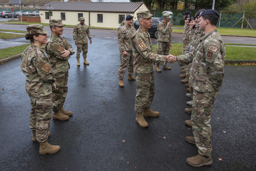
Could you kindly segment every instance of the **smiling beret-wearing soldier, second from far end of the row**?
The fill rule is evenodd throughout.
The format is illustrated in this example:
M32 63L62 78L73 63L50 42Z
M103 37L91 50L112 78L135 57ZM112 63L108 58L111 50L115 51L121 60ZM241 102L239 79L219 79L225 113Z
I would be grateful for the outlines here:
M189 18L190 17L191 17L191 15L187 15L184 18L186 26L184 26L183 36L182 36L182 42L183 42L182 55L187 54L189 51L189 31L190 31ZM188 78L189 78L188 65L184 65L184 69L185 69L185 74L180 75L180 77L185 78L185 79L181 80L181 82L187 83Z

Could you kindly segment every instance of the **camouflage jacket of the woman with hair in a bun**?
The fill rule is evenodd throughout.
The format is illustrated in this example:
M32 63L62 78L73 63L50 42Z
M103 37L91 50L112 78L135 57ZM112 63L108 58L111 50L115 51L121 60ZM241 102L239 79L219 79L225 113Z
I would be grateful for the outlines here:
M26 91L30 97L42 97L51 94L51 83L56 81L51 64L45 51L30 44L21 56L20 68L26 75Z

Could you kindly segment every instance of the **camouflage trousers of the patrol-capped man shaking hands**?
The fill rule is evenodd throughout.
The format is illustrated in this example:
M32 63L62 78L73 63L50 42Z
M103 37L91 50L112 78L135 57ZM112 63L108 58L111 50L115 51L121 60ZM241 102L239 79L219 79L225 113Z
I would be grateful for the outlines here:
M140 74L135 73L137 88L135 96L135 112L143 112L150 108L155 95L155 75L154 72Z

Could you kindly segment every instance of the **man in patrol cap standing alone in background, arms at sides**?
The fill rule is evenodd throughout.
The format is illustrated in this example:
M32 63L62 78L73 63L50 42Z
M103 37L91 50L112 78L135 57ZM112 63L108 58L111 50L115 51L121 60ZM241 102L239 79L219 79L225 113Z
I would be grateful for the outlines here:
M73 39L75 40L75 45L77 45L77 66L80 66L80 53L83 50L83 64L89 65L86 61L88 52L88 40L86 35L92 44L92 37L88 25L84 24L84 17L79 18L80 23L75 25L73 29Z

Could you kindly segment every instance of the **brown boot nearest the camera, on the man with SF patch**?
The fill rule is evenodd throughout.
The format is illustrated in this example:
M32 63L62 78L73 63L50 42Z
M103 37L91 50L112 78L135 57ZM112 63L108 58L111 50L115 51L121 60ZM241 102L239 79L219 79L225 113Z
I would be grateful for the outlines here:
M211 159L211 157L202 156L202 155L198 154L194 157L187 158L186 162L190 166L200 167L200 166L211 165L212 164L212 159Z

